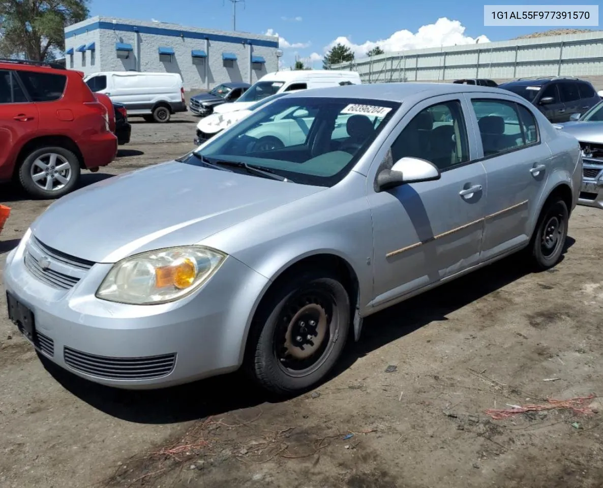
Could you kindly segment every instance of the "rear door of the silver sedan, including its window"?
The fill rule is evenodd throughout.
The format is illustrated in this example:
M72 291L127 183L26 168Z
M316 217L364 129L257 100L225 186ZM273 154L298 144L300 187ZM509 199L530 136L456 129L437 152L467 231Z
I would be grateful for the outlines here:
M540 142L534 115L514 98L489 93L468 98L488 176L482 242L487 261L529 241L529 216L545 189L551 151Z

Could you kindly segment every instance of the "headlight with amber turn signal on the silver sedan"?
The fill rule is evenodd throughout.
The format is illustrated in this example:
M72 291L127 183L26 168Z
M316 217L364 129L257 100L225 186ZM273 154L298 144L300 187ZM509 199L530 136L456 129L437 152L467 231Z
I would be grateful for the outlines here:
M131 305L173 302L203 285L224 259L226 254L202 246L140 253L113 265L96 297Z

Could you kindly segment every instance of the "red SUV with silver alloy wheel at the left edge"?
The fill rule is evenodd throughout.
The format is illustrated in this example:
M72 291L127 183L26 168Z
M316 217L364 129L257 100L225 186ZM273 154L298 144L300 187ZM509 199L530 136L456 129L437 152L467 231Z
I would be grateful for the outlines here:
M81 170L98 171L115 157L110 115L83 73L0 60L0 182L19 182L35 198L72 191Z

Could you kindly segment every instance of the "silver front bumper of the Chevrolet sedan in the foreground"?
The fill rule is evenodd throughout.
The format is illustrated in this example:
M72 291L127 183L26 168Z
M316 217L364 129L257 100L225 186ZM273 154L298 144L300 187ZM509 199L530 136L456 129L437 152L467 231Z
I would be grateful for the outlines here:
M4 282L20 304L13 315L33 315L28 340L58 366L120 388L166 387L238 369L251 314L268 282L229 257L192 296L162 305L125 305L95 297L112 265L93 265L65 291L34 276L24 252L22 242L8 255Z

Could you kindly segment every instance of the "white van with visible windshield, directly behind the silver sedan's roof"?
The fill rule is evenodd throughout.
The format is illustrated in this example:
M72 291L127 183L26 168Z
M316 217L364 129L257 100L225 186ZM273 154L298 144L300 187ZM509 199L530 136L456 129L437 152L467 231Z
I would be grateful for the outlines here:
M358 72L330 69L275 71L257 80L233 103L224 103L215 107L213 113L229 113L236 112L236 110L245 110L257 101L262 100L262 98L270 97L274 93L326 88L344 84L361 84Z

